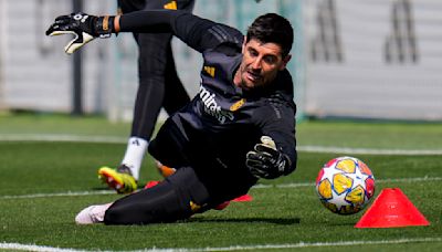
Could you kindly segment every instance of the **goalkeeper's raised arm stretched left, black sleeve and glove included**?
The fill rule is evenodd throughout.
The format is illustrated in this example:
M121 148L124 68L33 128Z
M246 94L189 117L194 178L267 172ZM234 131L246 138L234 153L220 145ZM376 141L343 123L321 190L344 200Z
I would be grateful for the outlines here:
M72 13L57 17L46 35L74 34L65 48L71 54L95 38L108 38L118 32L171 32L199 52L225 42L241 46L243 38L236 29L179 10L137 11L116 17Z

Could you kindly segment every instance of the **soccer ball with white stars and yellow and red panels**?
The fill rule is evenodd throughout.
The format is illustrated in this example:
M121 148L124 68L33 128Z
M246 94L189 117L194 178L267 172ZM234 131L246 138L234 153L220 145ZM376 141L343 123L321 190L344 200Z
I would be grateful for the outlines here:
M319 170L316 191L320 202L332 212L357 213L375 195L375 176L361 160L338 157Z

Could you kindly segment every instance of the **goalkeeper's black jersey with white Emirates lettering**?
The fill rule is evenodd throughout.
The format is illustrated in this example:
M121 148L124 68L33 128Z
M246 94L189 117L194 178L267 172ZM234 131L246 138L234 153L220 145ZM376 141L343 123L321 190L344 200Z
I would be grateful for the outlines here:
M281 71L266 87L244 91L233 84L241 60L240 31L180 11L143 11L122 17L122 31L168 31L202 53L199 93L166 122L168 135L190 165L213 160L220 167L249 172L245 155L270 136L296 167L293 82ZM171 125L171 127L170 127ZM173 128L170 130L170 128ZM154 154L155 156L155 154ZM204 161L201 161L204 160ZM210 162L212 164L212 162Z

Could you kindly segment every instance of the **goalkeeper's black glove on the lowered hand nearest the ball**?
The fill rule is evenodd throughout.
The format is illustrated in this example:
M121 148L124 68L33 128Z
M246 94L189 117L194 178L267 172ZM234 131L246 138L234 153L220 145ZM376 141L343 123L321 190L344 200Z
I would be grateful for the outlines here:
M245 165L250 172L256 178L274 179L282 175L290 167L288 157L276 149L275 141L269 136L261 137L261 144L249 151Z

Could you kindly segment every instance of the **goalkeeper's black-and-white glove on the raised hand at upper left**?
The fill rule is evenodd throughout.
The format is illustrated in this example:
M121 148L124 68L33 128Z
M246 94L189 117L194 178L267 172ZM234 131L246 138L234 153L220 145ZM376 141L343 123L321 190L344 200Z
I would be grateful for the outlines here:
M95 38L109 38L114 29L114 15L95 17L82 12L60 15L46 31L46 35L74 34L64 48L67 54L91 42Z

